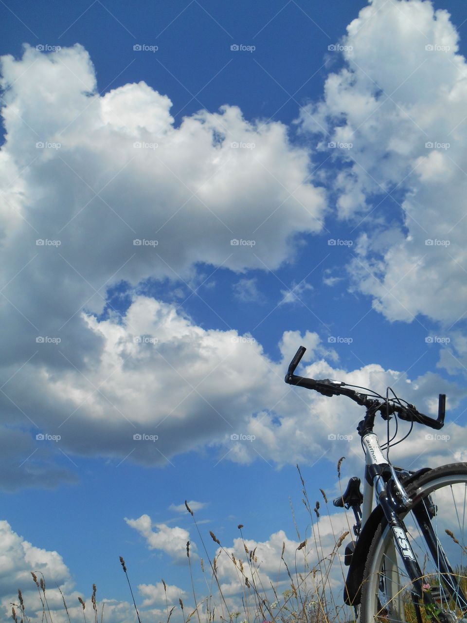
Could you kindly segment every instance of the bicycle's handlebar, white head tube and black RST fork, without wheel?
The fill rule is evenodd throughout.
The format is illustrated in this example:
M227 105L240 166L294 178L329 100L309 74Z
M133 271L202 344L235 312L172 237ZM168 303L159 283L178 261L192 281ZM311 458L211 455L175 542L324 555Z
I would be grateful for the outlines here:
M405 567L408 579L412 584L410 592L412 592L412 599L414 605L416 606L415 611L418 623L422 623L420 607L418 607L420 601L423 601L423 603L428 606L432 606L434 609L433 611L436 609L436 602L430 591L425 591L425 593L423 592L423 572L420 569L417 558L415 558L415 554L412 551L407 530L402 520L402 516L405 515L410 508L415 516L415 521L417 521L418 526L420 527L423 538L428 545L428 549L430 549L430 553L435 559L438 567L438 578L440 580L442 579L446 591L451 597L455 598L456 604L461 607L465 616L467 613L467 599L463 595L448 558L433 531L431 523L433 515L430 516L430 513L432 512L430 495L413 505L412 500L407 497L407 493L400 483L395 468L390 464L387 457L384 457L379 445L378 437L373 432L377 412L380 412L381 416L385 420L388 420L392 414L397 414L397 416L402 420L419 422L420 424L424 424L425 426L429 426L434 429L441 429L444 426L445 419L445 394L440 394L439 396L438 418L434 419L417 411L413 404L407 403L407 406L404 406L399 399L397 399L397 402L393 399L390 404L389 399L383 399L380 401L379 399L382 399L383 397L379 394L369 396L364 393L359 393L352 389L351 386L346 386L345 383L341 383L339 381L331 381L330 379L315 380L303 376L296 376L294 374L295 369L298 366L298 363L300 363L305 351L306 348L304 348L304 346L300 346L298 351L295 353L285 376L286 383L301 386L307 389L313 389L323 396L347 396L352 399L352 401L357 402L360 406L366 407L366 416L357 427L359 435L362 438L362 445L366 456L361 529L364 529L370 515L372 514L373 497L375 493L377 505L380 506L382 512L384 513L385 521L387 521L387 525L390 528L392 536L386 550L388 555L384 560L384 582L387 594L394 596L396 603L398 604L397 607L400 608L399 611L403 615L402 591L400 591L399 588L399 568L396 561L396 551L398 551L400 558L403 561L403 566ZM399 473L403 473L403 471L404 470L399 470ZM428 501L429 508L426 506L426 501ZM342 497L342 505L343 503L344 498ZM339 504L339 506L341 506L341 504ZM349 508L349 506L346 506L346 508ZM356 512L358 508L359 504L355 504L352 507L356 517L358 515ZM434 512L436 513L436 507ZM357 538L359 538L358 535ZM390 586L388 586L388 583ZM446 623L448 623L449 618L441 615L440 620L446 620Z

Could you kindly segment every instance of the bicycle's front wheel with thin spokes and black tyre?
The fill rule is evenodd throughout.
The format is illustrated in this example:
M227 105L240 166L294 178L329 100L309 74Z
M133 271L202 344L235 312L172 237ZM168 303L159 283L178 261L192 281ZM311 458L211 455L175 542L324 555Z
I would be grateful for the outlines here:
M467 623L467 464L437 467L407 493L412 505L401 516L422 569L423 594L436 606L414 596L392 531L379 525L364 571L360 623Z

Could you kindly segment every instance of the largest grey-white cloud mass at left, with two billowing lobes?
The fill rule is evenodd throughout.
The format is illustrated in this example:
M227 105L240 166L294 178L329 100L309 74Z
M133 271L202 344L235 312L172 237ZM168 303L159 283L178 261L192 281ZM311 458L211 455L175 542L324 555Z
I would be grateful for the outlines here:
M72 478L37 434L60 435L67 455L98 446L148 464L233 429L234 412L264 406L256 391L245 399L254 383L260 394L265 385L260 347L235 343L235 331L202 330L138 293L148 278L190 288L200 263L243 272L290 260L294 236L319 232L325 211L307 151L285 125L246 121L237 107L175 127L169 98L144 82L101 97L80 45L53 55L26 46L21 59L2 57L1 72L0 322L9 331L0 407L2 439L16 453L5 486ZM110 300L116 285L131 302L123 320L119 292ZM101 312L108 320L96 320ZM158 349L134 341L149 333ZM149 362L165 385L158 374L144 380ZM140 443L136 452L138 433L161 435L164 446Z

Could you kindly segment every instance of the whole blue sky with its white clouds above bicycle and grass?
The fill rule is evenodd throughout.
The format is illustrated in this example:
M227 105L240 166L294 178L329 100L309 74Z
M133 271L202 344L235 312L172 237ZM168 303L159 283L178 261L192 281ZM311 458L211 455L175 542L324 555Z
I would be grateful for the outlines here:
M196 541L170 508L185 499L209 541L238 523L293 540L289 497L304 533L295 463L332 495L336 459L361 464L328 433L361 414L283 384L301 343L309 374L394 384L424 411L446 391L451 444L422 451L418 431L400 456L465 460L465 4L0 12L1 519L46 576L125 602L123 555L135 586L187 591L186 561L125 521Z

